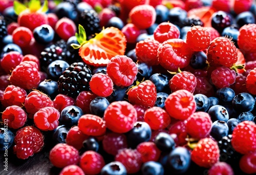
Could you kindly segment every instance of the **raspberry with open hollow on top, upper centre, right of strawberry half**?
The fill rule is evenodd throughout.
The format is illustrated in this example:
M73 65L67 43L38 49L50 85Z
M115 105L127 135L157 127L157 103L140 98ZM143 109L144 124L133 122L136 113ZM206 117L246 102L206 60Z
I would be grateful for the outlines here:
M179 29L174 24L169 22L160 23L154 31L154 38L161 43L168 39L174 39L179 37Z

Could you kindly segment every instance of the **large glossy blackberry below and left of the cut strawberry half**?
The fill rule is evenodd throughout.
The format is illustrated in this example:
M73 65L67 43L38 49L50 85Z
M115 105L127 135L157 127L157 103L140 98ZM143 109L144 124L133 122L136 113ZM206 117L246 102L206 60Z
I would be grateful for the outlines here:
M84 62L74 62L58 79L58 91L74 99L82 91L90 91L91 68Z

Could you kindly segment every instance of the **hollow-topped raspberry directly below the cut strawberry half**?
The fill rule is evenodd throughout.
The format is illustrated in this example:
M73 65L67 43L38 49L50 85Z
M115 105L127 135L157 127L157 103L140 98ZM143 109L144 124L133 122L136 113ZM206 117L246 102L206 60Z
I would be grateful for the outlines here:
M117 86L129 86L136 80L138 68L132 58L117 55L106 65L106 73Z

